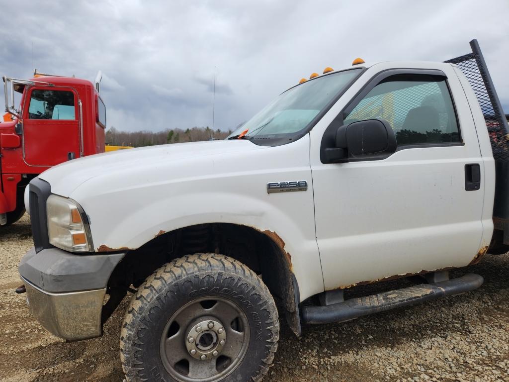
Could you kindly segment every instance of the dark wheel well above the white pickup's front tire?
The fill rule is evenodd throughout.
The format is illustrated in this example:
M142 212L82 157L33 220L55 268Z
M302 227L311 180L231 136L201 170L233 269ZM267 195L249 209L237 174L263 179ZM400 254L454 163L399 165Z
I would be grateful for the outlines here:
M229 223L209 223L160 232L142 247L129 251L108 282L110 290L141 285L157 268L194 253L230 256L251 268L280 299L290 316L292 330L300 333L298 286L285 242L272 231ZM295 326L295 329L294 329ZM296 328L298 326L298 328Z

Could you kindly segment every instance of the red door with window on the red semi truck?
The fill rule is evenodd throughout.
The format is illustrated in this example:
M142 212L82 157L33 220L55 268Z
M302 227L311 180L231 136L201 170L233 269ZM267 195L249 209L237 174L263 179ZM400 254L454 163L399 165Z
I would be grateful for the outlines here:
M23 113L23 157L50 167L80 156L78 94L71 88L34 87Z

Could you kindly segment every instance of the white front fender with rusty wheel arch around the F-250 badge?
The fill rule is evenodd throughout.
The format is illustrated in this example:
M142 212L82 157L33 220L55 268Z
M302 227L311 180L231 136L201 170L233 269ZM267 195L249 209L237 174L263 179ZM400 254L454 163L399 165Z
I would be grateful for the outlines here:
M308 153L306 135L289 145L164 170L173 176L151 173L154 166L143 175L109 174L107 184L99 184L96 177L70 197L90 217L97 252L137 249L162 233L205 223L245 225L272 235L291 256L305 299L324 290ZM127 175L135 178L130 185L125 184ZM267 183L293 180L307 181L308 189L267 193ZM108 190L109 184L115 188ZM104 191L98 193L101 188Z

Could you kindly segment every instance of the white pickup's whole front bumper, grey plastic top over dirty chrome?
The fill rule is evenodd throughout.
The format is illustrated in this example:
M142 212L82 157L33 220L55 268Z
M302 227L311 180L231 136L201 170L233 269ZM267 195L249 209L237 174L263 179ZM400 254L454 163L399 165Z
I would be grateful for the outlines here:
M75 255L58 248L36 253L32 248L19 263L32 314L66 340L100 336L108 280L124 256Z

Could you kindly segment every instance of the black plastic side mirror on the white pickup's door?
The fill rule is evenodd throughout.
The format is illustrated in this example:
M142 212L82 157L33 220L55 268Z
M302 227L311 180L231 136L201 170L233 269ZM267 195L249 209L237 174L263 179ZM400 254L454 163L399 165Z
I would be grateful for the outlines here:
M377 160L386 158L396 147L396 137L389 123L368 119L338 127L335 148L326 149L326 155L330 163Z

